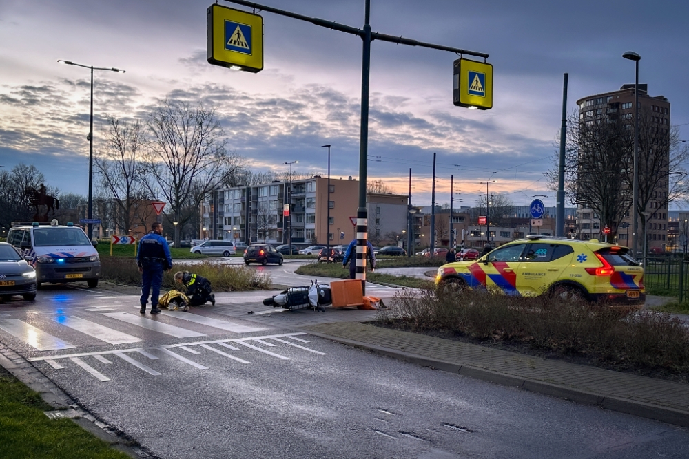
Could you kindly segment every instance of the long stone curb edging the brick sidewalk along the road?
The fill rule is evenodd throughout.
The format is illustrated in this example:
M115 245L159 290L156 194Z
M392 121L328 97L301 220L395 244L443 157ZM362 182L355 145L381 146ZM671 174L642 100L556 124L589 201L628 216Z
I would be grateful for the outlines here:
M522 376L513 376L488 370L486 368L475 367L473 365L462 365L459 363L452 363L438 359L430 359L429 357L420 356L418 354L411 354L391 348L384 348L383 346L362 343L361 341L354 341L352 339L333 337L329 334L313 332L308 328L300 329L302 332L307 332L316 337L336 341L337 343L347 344L356 348L362 348L392 357L408 363L415 363L422 367L431 367L434 370L442 370L444 372L451 372L460 374L461 376L468 376L469 378L479 379L489 383L495 383L508 387L517 387L535 394L542 394L551 397L563 398L565 400L573 401L579 405L595 405L610 411L631 414L641 418L648 418L659 420L664 423L679 425L682 427L689 427L689 412L680 409L663 407L661 405L653 405L652 403L644 403L640 401L633 401L627 398L619 398L616 396L606 394L596 394L595 392L588 392L575 387L567 387L544 381L537 381L535 379L524 378Z

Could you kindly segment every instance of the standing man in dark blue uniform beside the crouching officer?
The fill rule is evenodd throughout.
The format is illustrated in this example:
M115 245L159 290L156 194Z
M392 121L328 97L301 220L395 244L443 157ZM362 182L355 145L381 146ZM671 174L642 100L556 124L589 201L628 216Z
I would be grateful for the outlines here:
M151 314L161 312L158 309L158 296L163 284L163 271L172 269L172 256L163 237L163 225L155 222L151 225L151 232L138 242L136 264L141 273L141 314L146 313L146 303L151 292Z

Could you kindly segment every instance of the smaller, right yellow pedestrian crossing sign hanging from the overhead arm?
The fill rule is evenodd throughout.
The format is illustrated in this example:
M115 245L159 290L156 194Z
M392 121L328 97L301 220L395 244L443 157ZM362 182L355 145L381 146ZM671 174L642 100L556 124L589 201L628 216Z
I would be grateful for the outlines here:
M460 58L454 63L453 103L480 110L493 108L493 65Z

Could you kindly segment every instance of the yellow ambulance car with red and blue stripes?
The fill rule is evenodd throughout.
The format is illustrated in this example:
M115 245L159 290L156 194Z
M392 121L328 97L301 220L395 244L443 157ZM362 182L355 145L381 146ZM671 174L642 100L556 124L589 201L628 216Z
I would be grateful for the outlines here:
M640 309L644 268L624 246L544 236L504 244L472 261L438 268L440 292L488 288L505 295L557 295Z

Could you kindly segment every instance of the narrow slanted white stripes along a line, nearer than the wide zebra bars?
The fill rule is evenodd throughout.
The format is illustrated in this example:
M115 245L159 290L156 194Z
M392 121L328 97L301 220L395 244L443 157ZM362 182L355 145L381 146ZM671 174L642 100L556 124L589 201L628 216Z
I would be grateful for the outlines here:
M280 345L275 344L271 341L275 341L276 343L280 343L281 345L285 345L284 347L287 348L287 346L291 348L296 348L298 350L304 351L304 352L311 352L312 354L317 354L320 356L325 356L327 355L325 352L320 352L315 349L311 349L305 345L302 345L300 343L309 343L309 341L300 338L300 335L305 335L306 333L304 332L292 332L292 333L282 333L282 334L271 334L271 335L265 335L265 336L260 336L260 337L245 337L245 338L234 338L234 339L220 339L220 340L214 340L214 341L194 341L192 343L178 343L178 344L169 344L169 345L161 345L161 346L154 346L151 348L130 348L130 349L119 349L119 350L107 350L107 351L99 351L99 352L82 352L82 353L76 353L76 354L64 354L64 355L59 355L59 356L43 356L43 357L33 357L31 359L28 359L30 362L36 362L40 363L43 362L47 365L50 365L54 370L65 370L65 365L68 365L66 361L74 363L76 367L81 367L82 370L96 378L98 381L101 383L105 383L107 381L112 381L112 378L110 376L107 376L103 372L101 372L99 369L96 369L95 366L99 366L98 363L94 362L97 361L103 365L112 365L112 361L110 359L113 359L116 357L117 359L120 359L121 361L130 364L133 368L136 368L138 370L141 370L147 374L150 374L151 376L161 376L163 373L161 371L165 370L164 364L163 365L156 365L155 363L150 363L152 366L156 366L156 368L146 365L145 363L142 363L141 361L135 359L135 356L141 356L145 357L146 359L150 361L162 361L161 357L167 357L167 358L172 358L176 359L177 361L181 361L182 363L185 363L189 365L190 367L195 368L196 370L208 370L209 367L203 365L202 363L198 363L197 361L193 360L192 358L188 358L187 356L183 356L182 354L178 353L179 351L184 351L187 352L187 354L191 354L192 356L199 356L203 357L204 354L207 354L209 352L212 352L212 354L217 354L220 356L225 357L226 359L232 361L232 363L238 363L238 364L243 364L243 365L248 365L251 364L251 360L256 358L257 354L266 354L274 359L282 360L282 361L289 361L291 360L291 357L285 356L283 354L278 354L278 351L276 350L267 350L264 348L261 348L258 346L260 345L265 345L269 348L278 348ZM296 342L295 342L296 341ZM219 348L223 348L222 350ZM233 353L230 354L229 352L232 351ZM159 354L160 356L156 355ZM240 356L236 355L240 354ZM107 357L110 357L108 359ZM141 358L140 357L140 358ZM248 360L247 360L248 359ZM64 362L63 362L64 361ZM148 363L148 362L147 362ZM93 365L93 366L92 366ZM100 365L100 366L103 366ZM161 370L161 371L158 371ZM106 370L103 370L106 372ZM173 370L170 370L172 372Z

